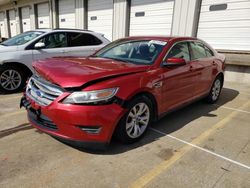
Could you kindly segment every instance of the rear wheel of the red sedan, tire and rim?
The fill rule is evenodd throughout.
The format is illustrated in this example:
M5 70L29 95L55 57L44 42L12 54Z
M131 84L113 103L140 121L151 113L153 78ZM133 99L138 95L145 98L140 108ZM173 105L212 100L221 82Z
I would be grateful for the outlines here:
M206 97L206 101L208 103L214 104L218 101L222 86L223 86L222 78L220 76L217 76L213 82L213 85L210 89L208 96Z

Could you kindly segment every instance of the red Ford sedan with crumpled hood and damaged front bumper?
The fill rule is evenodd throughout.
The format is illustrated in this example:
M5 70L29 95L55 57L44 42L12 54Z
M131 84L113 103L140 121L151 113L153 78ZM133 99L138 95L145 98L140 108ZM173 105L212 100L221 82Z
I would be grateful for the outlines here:
M138 141L150 123L218 100L225 57L190 37L129 37L90 57L33 63L21 105L37 129L80 144Z

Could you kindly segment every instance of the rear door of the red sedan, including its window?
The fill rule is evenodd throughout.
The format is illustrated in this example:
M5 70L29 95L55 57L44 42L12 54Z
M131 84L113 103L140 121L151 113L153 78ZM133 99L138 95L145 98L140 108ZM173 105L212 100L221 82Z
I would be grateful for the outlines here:
M212 52L198 41L189 42L191 54L191 70L195 73L194 96L198 97L209 91L212 79L213 58Z

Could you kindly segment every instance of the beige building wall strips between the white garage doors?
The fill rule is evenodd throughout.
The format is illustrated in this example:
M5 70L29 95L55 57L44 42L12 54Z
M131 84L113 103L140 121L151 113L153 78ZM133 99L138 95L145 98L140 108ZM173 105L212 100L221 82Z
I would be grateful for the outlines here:
M76 28L87 29L87 0L73 0L76 5L75 15L76 15ZM73 2L72 1L72 2ZM173 35L195 35L195 18L197 14L197 5L200 0L175 0L174 7L174 22L172 26ZM20 29L20 19L18 17L18 8L23 6L30 6L30 18L31 18L31 28L35 29L35 12L34 4L49 2L50 7L50 23L51 28L58 27L58 0L19 0L17 4L8 3L0 6L0 12L4 11L6 15L6 10L15 9L16 10L16 22L17 22L17 33L21 32ZM131 0L114 0L114 12L113 12L113 40L128 36L129 30L129 4ZM180 11L181 10L181 11ZM7 24L7 18L5 16L5 22ZM8 24L7 24L8 25ZM6 32L9 33L6 28Z

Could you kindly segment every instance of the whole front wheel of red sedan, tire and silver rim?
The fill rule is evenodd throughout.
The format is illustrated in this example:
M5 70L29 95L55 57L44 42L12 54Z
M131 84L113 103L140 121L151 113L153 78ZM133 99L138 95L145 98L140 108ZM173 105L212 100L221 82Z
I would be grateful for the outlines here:
M115 131L115 137L123 144L140 140L153 118L152 102L145 96L134 98L127 108L127 113L121 118Z

